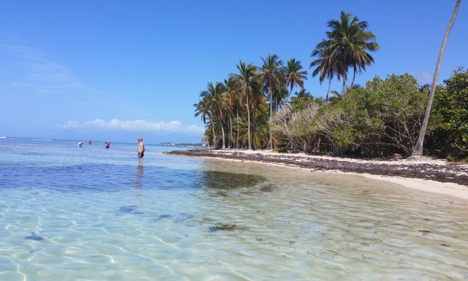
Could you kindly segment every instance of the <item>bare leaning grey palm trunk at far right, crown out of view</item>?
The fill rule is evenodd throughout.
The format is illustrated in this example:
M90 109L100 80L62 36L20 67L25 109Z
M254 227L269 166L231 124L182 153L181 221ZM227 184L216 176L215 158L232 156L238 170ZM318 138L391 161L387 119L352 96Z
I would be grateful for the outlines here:
M449 21L449 26L447 26L447 30L445 31L444 39L442 39L442 46L440 46L439 57L437 58L437 63L435 66L435 71L434 71L434 77L432 78L431 91L429 92L429 101L427 101L426 111L424 112L424 119L422 119L421 129L419 130L419 136L417 138L416 145L414 145L412 155L422 155L424 137L426 136L427 124L429 123L429 114L431 113L432 101L434 101L434 93L435 93L437 78L439 77L440 65L442 64L442 57L444 56L445 46L447 45L450 31L452 30L452 26L455 22L455 19L457 18L457 13L458 13L458 8L460 6L460 3L462 3L462 0L457 0L454 11L452 13L452 18Z

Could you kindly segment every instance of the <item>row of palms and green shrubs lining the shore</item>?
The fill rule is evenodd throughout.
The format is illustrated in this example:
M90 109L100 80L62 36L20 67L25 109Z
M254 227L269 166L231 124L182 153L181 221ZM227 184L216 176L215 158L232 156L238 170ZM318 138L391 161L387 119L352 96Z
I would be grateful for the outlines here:
M457 6L452 25L456 11ZM312 77L329 85L325 98L304 88L307 71L295 58L283 63L268 54L260 57L260 66L240 61L225 81L209 82L193 105L205 123L202 141L210 148L406 158L422 133L424 155L468 161L468 71L463 66L438 86L419 85L407 73L375 76L359 85L355 76L374 63L370 52L379 48L377 37L366 21L345 12L327 26L310 62ZM340 92L330 90L335 78L342 81Z

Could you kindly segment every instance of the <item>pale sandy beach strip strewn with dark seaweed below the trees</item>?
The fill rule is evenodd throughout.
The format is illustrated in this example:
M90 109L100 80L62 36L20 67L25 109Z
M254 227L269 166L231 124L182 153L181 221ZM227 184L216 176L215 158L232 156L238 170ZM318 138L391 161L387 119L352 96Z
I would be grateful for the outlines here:
M305 153L275 153L272 150L193 149L174 150L167 154L253 161L322 173L359 174L407 188L468 200L468 164L449 163L447 160L367 160Z

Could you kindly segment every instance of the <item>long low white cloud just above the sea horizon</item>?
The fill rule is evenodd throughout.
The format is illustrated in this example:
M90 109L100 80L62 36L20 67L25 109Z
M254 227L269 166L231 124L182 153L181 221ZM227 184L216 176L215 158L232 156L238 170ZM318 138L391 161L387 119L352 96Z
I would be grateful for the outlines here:
M157 133L204 133L205 129L196 125L183 126L180 121L171 122L150 122L144 120L121 121L111 119L106 121L96 119L88 122L68 121L60 125L63 129L91 128L110 131L147 131Z

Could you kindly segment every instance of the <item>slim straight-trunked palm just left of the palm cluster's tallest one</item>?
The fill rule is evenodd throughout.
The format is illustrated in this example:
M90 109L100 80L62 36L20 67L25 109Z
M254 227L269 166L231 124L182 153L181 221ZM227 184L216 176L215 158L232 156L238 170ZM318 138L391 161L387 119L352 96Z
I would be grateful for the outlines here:
M256 96L260 93L258 86L257 67L252 63L245 64L240 61L236 66L239 73L231 73L230 78L233 79L235 86L239 89L242 98L245 98L245 106L247 107L247 123L248 123L248 149L252 150L252 141L250 139L250 103L249 97Z

